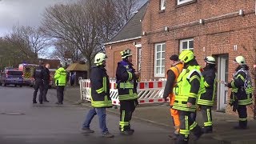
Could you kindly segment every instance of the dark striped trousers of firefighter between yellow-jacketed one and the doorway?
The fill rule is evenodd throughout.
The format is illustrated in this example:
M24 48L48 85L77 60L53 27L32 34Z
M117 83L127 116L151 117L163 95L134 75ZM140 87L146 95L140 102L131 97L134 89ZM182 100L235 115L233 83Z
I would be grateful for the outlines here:
M203 106L203 105L200 106L205 132L212 131L213 118L212 118L212 114L211 114L211 107L212 106Z

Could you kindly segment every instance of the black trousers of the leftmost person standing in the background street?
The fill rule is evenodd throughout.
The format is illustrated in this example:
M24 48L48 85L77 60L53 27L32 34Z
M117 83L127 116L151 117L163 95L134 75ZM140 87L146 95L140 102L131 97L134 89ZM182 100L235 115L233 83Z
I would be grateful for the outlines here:
M38 90L40 90L40 94L39 94L39 99L38 100L39 100L40 103L42 103L42 95L43 95L43 90L44 90L42 79L35 79L33 102L37 102Z

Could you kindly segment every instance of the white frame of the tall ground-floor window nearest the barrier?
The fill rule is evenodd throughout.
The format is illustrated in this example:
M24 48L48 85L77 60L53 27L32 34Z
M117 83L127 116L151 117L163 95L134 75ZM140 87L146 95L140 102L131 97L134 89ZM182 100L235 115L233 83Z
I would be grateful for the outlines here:
M157 47L161 45L161 50L158 51ZM166 46L166 43L156 43L154 44L154 77L165 77L166 70L164 69L162 71L162 67L165 68L165 65L162 65L162 60L165 60L166 58L162 56L162 53L166 53L166 47L165 50L162 50L162 46ZM160 54L160 58L157 59L157 54ZM157 66L157 60L160 60L160 65ZM157 68L160 68L160 73L157 74Z

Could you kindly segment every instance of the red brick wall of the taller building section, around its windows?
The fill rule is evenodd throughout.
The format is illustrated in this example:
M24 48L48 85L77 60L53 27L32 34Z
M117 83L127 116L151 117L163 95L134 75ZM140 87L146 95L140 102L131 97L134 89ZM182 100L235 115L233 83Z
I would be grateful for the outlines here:
M185 38L194 38L194 54L201 66L207 55L228 54L229 81L236 56L243 55L252 67L252 59L256 57L251 38L256 32L254 5L254 0L198 0L176 6L176 1L166 0L166 10L159 11L159 0L150 0L142 21L142 31L146 32L142 36L142 78L154 79L155 43L166 42L167 70L170 55L179 53L179 40ZM244 10L244 16L240 16L238 10ZM203 19L204 24L200 24L199 19ZM165 26L169 31L164 31ZM248 112L251 114L251 110Z

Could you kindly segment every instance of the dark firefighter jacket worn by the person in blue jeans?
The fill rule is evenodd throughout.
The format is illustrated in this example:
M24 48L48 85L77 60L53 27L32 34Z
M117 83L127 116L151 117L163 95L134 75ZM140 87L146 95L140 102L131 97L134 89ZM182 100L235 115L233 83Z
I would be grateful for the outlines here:
M111 107L110 80L106 69L102 66L92 66L90 71L91 106Z

